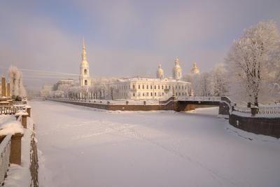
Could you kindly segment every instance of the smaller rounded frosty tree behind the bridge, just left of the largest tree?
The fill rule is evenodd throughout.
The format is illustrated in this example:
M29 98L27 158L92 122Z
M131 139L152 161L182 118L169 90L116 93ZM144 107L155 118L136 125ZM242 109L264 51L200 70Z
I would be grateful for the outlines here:
M213 95L228 95L228 76L224 64L217 64L210 74Z

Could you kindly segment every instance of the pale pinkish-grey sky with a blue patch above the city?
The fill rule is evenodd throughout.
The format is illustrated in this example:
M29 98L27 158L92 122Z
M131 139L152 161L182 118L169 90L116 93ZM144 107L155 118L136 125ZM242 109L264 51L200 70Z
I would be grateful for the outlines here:
M28 88L79 73L82 39L93 78L183 74L223 62L234 39L260 21L280 25L280 1L0 1L0 74L23 70ZM45 71L63 72L65 74Z

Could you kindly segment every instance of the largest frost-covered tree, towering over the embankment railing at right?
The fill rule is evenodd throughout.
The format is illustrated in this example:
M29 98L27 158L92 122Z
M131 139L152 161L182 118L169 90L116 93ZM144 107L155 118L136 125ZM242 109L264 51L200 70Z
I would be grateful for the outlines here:
M273 21L259 22L245 29L234 41L225 60L231 94L258 106L259 99L268 94L267 85L275 79L275 67L279 65L279 41L279 32Z

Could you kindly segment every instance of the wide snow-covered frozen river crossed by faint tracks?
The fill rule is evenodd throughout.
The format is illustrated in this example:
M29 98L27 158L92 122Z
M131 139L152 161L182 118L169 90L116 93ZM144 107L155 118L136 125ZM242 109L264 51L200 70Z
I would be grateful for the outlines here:
M279 141L251 141L226 130L218 108L31 106L40 186L280 186Z

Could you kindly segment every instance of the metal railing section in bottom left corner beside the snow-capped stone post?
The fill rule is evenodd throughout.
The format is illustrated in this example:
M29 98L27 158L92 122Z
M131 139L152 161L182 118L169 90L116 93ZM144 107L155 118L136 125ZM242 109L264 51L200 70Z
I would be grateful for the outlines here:
M10 139L12 134L6 135L0 144L0 184L3 186L6 173L10 163Z

